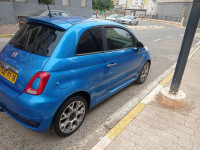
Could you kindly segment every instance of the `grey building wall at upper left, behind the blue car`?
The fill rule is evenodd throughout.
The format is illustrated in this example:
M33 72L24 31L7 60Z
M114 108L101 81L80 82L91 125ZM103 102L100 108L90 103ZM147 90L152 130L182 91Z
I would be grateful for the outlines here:
M0 23L13 24L18 21L18 16L26 16L30 12L37 10L47 10L47 6L39 4L38 0L27 0L27 3L15 2L0 2ZM92 15L92 0L87 0L87 7L81 7L81 0L70 0L70 6L62 5L62 0L55 0L55 5L50 5L50 9L63 10L70 13L72 16L91 17Z

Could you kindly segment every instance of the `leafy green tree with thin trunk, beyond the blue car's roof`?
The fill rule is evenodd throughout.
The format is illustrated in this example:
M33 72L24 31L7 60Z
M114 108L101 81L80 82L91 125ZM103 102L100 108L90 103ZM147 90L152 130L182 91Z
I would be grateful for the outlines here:
M114 8L113 0L93 0L92 8L99 11L109 11ZM104 13L105 14L105 13ZM106 15L105 15L106 17Z

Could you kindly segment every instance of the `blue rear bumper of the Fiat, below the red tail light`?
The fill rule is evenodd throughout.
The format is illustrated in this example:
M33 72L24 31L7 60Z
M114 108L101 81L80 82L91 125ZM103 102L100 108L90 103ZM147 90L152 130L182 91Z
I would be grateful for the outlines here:
M52 97L18 94L0 82L0 109L31 130L47 131L58 107Z

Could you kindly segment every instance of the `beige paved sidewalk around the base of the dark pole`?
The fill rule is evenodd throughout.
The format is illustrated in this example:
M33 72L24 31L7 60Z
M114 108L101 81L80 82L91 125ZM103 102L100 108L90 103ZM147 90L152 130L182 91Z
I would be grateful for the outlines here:
M200 149L200 50L188 61L181 84L188 105L170 109L157 100L141 112L111 142L93 149L106 150L199 150ZM167 86L170 86L168 83ZM138 111L138 110L137 110ZM120 127L119 127L120 128ZM109 133L108 133L109 134ZM107 135L108 135L107 134ZM109 136L108 136L109 137ZM106 138L104 138L106 139ZM99 142L103 143L103 142ZM108 143L110 143L108 145ZM105 146L108 145L108 146ZM106 147L106 148L101 148Z

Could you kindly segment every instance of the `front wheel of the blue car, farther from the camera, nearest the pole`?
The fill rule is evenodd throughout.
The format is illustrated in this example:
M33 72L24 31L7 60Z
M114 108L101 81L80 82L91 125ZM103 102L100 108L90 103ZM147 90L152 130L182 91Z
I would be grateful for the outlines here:
M143 67L140 71L140 74L139 74L137 80L135 81L135 83L137 83L137 84L144 83L147 79L148 74L149 74L149 69L150 69L150 63L147 61L143 65Z

